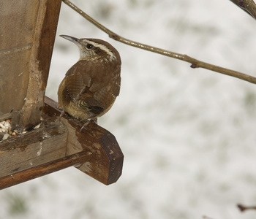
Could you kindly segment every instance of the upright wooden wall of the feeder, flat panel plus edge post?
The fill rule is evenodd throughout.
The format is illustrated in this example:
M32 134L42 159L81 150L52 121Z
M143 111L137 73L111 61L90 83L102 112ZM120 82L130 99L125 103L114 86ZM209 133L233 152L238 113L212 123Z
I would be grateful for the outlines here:
M0 118L21 130L40 122L61 0L0 5Z

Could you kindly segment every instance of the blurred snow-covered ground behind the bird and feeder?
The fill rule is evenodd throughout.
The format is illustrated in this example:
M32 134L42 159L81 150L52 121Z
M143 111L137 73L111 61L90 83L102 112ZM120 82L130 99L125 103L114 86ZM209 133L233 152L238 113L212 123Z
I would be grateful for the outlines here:
M231 1L73 1L123 37L256 76L256 22ZM0 218L256 218L256 86L113 41L67 5L59 34L105 39L122 58L121 93L99 119L124 153L102 185L75 168L0 192ZM78 60L56 37L46 94Z

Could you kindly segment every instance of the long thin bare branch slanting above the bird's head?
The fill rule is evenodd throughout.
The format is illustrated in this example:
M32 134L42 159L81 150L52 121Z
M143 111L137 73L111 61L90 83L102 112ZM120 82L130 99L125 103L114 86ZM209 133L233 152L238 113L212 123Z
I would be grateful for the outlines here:
M162 49L159 49L158 47L152 47L150 45L145 45L143 43L135 42L135 41L126 39L124 37L121 37L118 34L114 33L113 31L110 31L110 29L106 28L105 26L102 26L102 24L98 23L96 20L91 18L89 15L87 15L81 9L76 7L75 4L72 4L68 0L62 0L62 1L65 4L67 4L69 7L74 9L76 12L78 12L80 15L82 15L83 18L86 18L86 20L89 20L91 23L93 23L94 26L97 26L97 28L101 29L106 34L108 34L108 36L110 38L113 38L113 39L115 39L119 42L122 42L124 44L130 45L130 46L133 46L133 47L138 47L138 48L143 49L143 50L148 50L148 51L151 51L153 53L159 53L161 55L166 55L166 56L171 57L171 58L176 58L176 59L179 59L179 60L182 60L182 61L187 61L190 64L192 64L191 67L193 69L195 69L195 68L208 69L208 70L211 70L211 71L214 71L214 72L219 72L221 74L227 74L227 75L230 75L232 77L237 77L241 80L246 80L247 82L252 82L252 83L256 84L256 77L252 77L248 74L244 74L244 73L241 73L241 72L236 72L236 71L233 71L233 70L230 70L230 69L225 69L225 68L222 68L222 67L219 67L219 66L215 66L213 64L208 64L206 62L199 61L199 60L197 60L195 58L192 58L188 55L173 53L173 52L168 51L168 50L162 50Z

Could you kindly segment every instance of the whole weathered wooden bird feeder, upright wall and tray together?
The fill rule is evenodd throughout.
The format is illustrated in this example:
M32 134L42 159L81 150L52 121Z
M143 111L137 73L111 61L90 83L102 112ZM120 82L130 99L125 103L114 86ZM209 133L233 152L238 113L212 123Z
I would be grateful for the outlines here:
M83 124L60 118L57 103L45 96L61 0L0 5L0 122L10 119L20 131L0 142L0 189L68 166L115 183L124 155L113 134L95 123L80 132Z

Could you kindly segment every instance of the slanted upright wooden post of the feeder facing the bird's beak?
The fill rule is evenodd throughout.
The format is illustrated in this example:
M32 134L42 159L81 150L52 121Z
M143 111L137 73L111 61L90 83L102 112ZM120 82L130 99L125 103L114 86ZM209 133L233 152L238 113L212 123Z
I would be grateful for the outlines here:
M36 126L40 122L60 7L60 0L39 1L37 26L31 48L29 84L18 122L20 130Z

